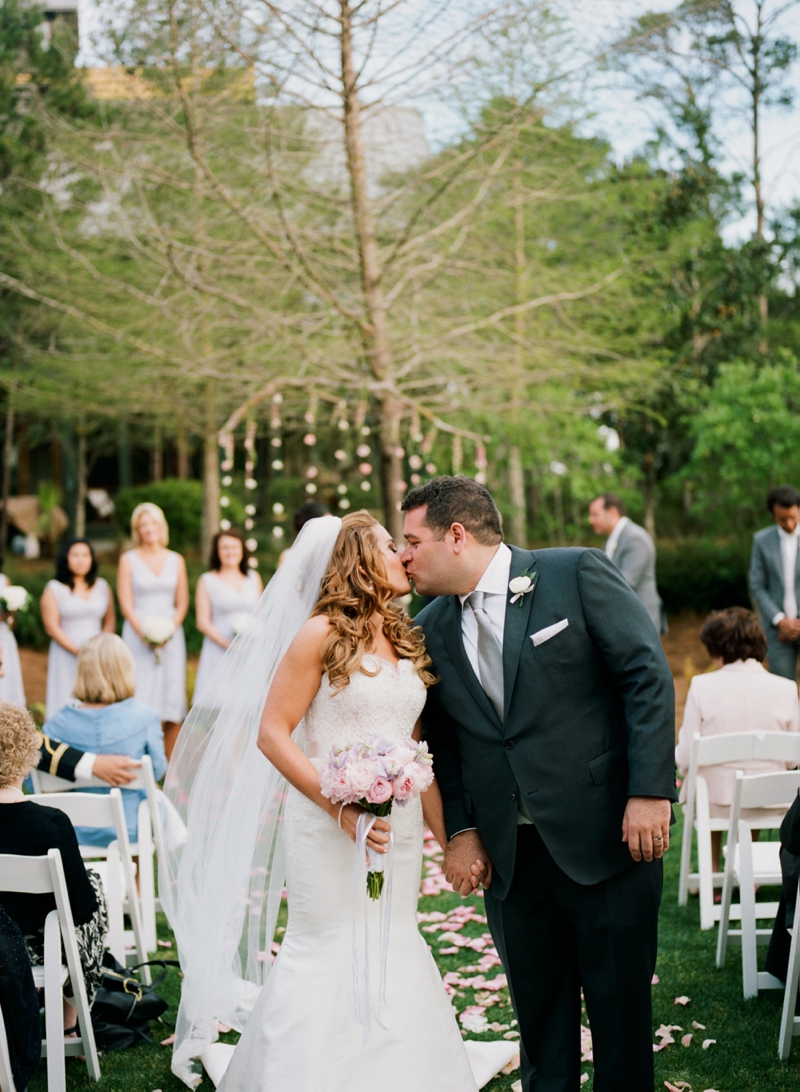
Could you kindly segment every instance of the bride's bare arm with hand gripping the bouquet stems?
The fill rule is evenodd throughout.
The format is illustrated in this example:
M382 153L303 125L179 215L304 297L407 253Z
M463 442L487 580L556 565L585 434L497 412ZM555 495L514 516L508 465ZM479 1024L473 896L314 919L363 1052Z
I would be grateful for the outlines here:
M309 618L280 661L266 696L259 726L259 750L266 756L295 788L326 811L334 822L339 806L320 791L320 774L291 738L306 715L322 679L322 645L330 622L324 616ZM348 804L342 810L342 829L356 839L356 823L363 809ZM368 845L385 852L389 823L379 819L370 831Z

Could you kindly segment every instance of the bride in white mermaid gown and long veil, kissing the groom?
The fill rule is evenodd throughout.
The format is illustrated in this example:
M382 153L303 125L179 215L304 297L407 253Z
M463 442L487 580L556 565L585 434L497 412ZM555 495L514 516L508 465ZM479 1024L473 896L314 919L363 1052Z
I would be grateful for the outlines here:
M212 1069L214 1051L230 1053L210 1045L223 1021L243 1034L220 1092L477 1089L417 926L423 821L445 841L435 782L369 831L387 862L378 902L354 846L362 809L320 791L333 746L421 737L434 679L392 605L408 591L367 512L310 521L217 669L226 697L181 732L165 787L189 833L166 855L162 891L184 972L172 1068L190 1087L194 1058Z

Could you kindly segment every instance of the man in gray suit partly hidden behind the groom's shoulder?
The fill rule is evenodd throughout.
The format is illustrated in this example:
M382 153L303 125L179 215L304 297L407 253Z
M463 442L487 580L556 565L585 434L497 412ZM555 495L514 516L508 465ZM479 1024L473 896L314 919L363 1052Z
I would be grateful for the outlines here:
M616 492L604 492L589 505L589 523L596 535L607 535L606 557L620 570L638 595L658 633L661 597L656 589L656 547L644 527L625 515L625 505Z

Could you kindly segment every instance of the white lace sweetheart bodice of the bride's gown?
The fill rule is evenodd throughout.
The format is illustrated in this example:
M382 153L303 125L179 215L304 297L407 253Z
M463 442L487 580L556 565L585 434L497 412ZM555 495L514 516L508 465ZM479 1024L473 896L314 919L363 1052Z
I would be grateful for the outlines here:
M368 653L366 666L378 675L356 672L349 686L333 692L327 676L306 713L305 728L309 753L327 757L331 747L358 743L365 736L408 739L425 705L425 686L410 660L395 667L387 660Z

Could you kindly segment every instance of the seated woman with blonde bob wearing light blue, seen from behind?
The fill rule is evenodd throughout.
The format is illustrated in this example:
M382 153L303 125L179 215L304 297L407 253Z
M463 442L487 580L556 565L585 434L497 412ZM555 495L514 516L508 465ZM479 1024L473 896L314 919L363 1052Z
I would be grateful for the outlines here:
M45 724L45 731L71 747L140 759L150 755L156 778L167 770L160 720L155 710L133 697L136 679L133 656L116 633L98 633L77 654L73 696L80 705L64 705ZM104 788L82 788L103 793ZM128 835L138 841L138 812L144 790L123 788ZM108 845L116 838L111 828L79 828L82 845Z

